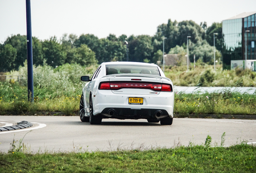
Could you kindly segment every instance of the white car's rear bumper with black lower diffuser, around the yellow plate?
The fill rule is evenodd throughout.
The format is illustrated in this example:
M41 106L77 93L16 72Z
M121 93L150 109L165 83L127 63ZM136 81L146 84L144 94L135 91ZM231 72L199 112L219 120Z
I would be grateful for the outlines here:
M143 105L130 105L129 97L143 98ZM114 109L117 117L154 117L157 111L161 111L161 118L173 117L174 92L161 92L158 95L114 94L111 91L101 90L93 97L93 114L103 114L109 117L109 110ZM129 118L127 118L129 119ZM132 118L133 119L133 118Z

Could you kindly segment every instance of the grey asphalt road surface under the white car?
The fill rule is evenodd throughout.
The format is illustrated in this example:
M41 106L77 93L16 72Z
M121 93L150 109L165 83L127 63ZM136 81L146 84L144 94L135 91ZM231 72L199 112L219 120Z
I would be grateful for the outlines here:
M256 120L175 118L173 125L163 126L143 119L103 119L101 125L90 125L77 116L0 116L0 126L18 121L29 121L33 126L0 132L0 152L8 152L12 140L19 142L24 136L23 143L33 152L170 148L190 142L200 145L207 135L214 146L220 145L223 132L227 146L256 143Z

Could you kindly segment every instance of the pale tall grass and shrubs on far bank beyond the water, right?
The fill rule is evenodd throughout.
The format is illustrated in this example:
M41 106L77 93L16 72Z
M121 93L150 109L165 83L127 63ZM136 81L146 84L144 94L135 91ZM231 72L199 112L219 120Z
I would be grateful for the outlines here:
M173 66L165 68L165 76L170 78L174 85L178 86L203 86L203 87L255 87L256 72L251 70L222 70L221 65L197 64L196 68L186 66Z

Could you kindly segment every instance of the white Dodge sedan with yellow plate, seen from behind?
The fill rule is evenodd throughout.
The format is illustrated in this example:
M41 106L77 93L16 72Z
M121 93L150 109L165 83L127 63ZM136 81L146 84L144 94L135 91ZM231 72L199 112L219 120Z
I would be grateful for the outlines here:
M171 125L173 83L159 66L142 62L103 62L83 88L80 119L101 124L102 119L147 119Z

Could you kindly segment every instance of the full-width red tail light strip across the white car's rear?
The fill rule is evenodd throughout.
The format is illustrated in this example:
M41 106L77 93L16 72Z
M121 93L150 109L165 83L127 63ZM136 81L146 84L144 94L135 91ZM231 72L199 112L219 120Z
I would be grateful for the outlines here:
M99 89L102 90L119 90L119 89L150 89L153 91L169 91L172 87L168 84L139 83L139 82L101 82Z

